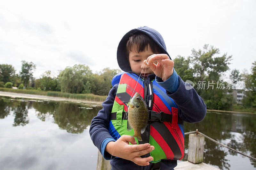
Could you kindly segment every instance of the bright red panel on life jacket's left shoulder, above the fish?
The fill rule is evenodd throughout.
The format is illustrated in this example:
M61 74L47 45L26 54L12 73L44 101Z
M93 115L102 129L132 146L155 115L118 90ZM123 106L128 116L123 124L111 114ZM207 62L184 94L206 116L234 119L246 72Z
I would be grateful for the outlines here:
M140 81L140 80L139 80L139 81ZM131 78L129 75L123 74L122 77L121 77L121 79L120 79L119 84L127 84L127 86L128 86L128 85L130 86L130 88L132 87L133 90L134 90L134 92L133 92L133 90L131 91L131 89L130 89L129 87L126 87L126 92L127 92L128 94L130 94L132 97L134 96L134 94L135 94L136 92L139 92L139 91L140 91L140 95L141 95L141 97L144 99L144 87L141 87L140 83L137 83L137 81L134 80L133 78ZM136 85L136 84L137 84L137 85ZM136 86L136 87L135 87L135 86ZM134 89L134 87L135 87L135 89ZM140 89L140 87L141 87L141 89ZM133 93L132 93L132 92L133 92Z

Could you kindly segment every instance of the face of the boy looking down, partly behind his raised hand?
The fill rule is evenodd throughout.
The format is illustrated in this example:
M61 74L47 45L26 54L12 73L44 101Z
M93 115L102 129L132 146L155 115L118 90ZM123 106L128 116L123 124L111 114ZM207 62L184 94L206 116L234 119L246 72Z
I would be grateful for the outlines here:
M148 45L148 48L145 48L144 51L140 51L139 53L135 52L135 49L132 48L132 51L129 52L129 64L131 66L131 69L134 73L137 73L138 75L147 78L149 74L153 74L154 71L152 71L147 64L144 65L143 61L147 60L147 58L150 55L153 55L150 46ZM144 66L144 69L143 69ZM143 70L142 70L143 69ZM146 71L145 71L146 69Z

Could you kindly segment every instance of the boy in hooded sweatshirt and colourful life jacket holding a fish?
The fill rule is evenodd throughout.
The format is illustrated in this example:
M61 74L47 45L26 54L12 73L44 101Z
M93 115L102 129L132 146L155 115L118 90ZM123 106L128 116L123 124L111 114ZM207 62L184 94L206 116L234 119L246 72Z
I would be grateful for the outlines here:
M113 170L173 169L184 155L183 121L202 121L204 101L195 89L186 90L162 36L154 29L144 26L126 33L117 48L117 62L125 73L113 78L102 110L92 119L94 145L105 159L111 159ZM139 91L149 110L142 142L129 136L133 134L126 130L125 118L130 97Z

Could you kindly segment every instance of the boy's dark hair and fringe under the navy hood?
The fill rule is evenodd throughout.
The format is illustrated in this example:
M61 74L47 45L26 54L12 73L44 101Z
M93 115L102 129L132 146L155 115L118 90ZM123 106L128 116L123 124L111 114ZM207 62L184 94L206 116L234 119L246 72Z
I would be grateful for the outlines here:
M148 35L144 33L134 33L129 37L129 40L126 43L126 57L129 57L129 52L132 51L132 47L136 53L144 51L145 49L151 48L152 52L155 54L162 53L162 49L153 41Z

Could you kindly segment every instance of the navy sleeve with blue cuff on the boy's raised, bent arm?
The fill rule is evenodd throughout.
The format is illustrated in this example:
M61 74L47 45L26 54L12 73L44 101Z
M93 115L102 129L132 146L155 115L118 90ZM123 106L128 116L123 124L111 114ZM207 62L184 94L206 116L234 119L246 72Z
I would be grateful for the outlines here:
M204 100L197 94L194 88L186 88L188 83L184 82L176 71L170 78L163 82L161 78L156 77L156 82L161 85L166 94L177 104L178 114L182 120L189 123L200 122L206 115L206 105ZM177 83L178 80L178 83Z

